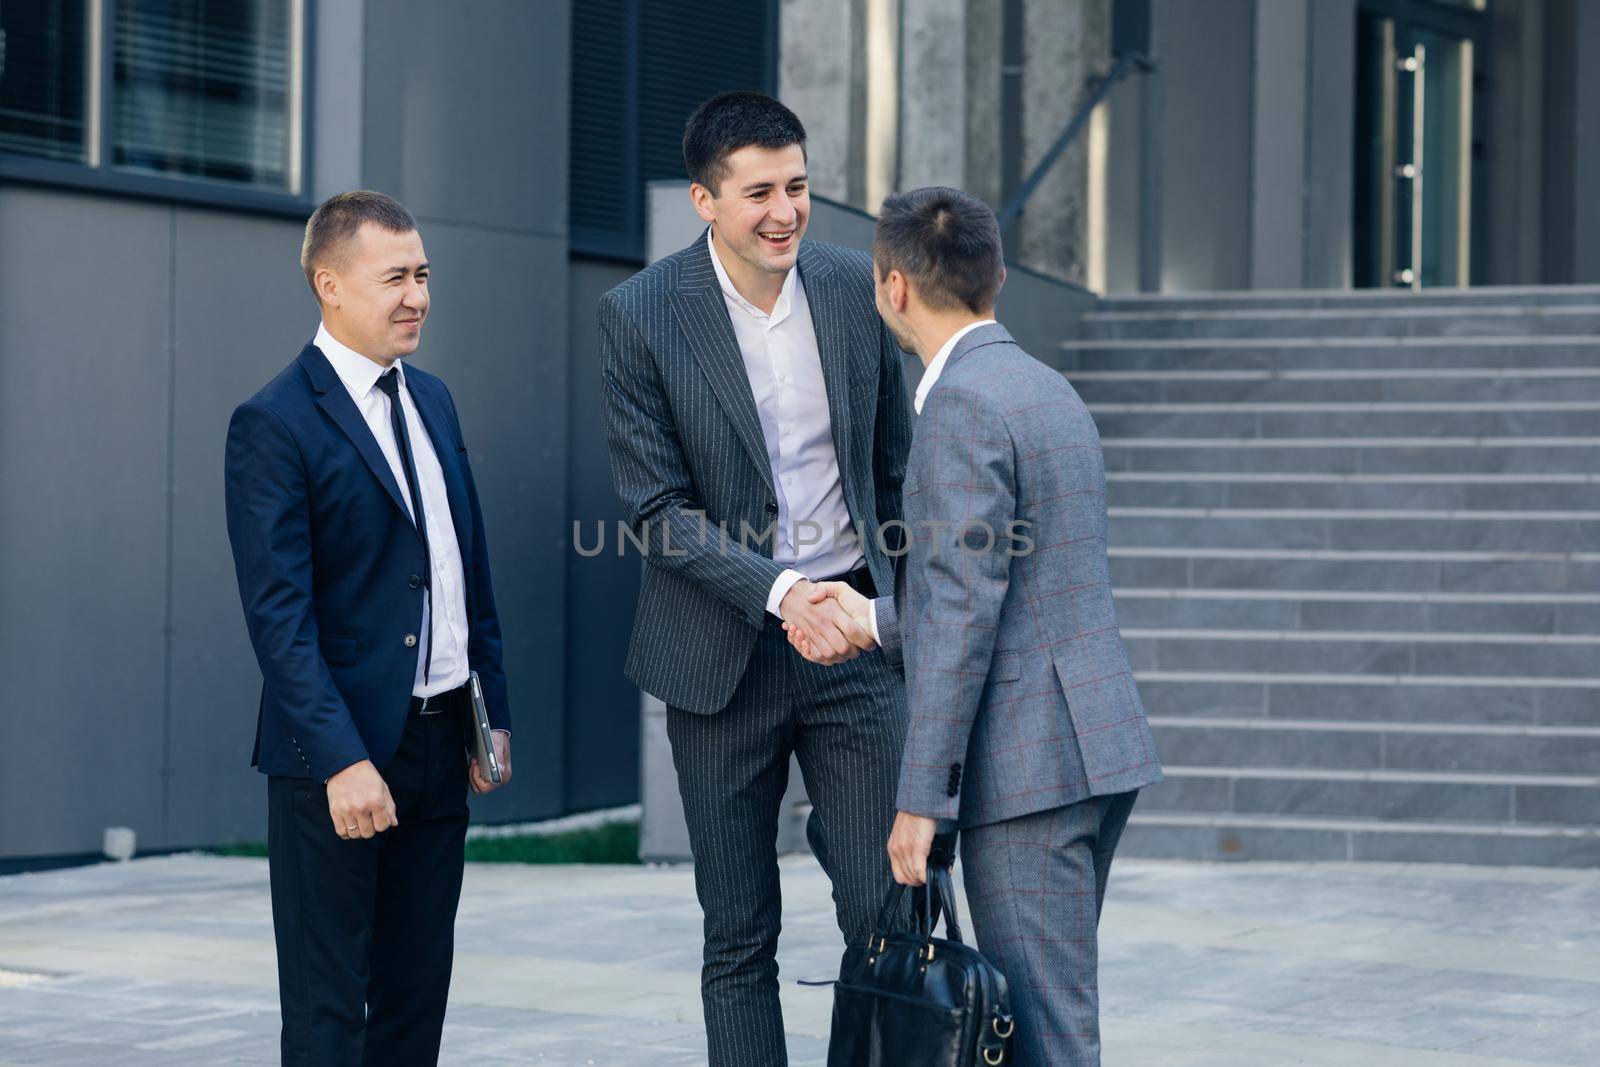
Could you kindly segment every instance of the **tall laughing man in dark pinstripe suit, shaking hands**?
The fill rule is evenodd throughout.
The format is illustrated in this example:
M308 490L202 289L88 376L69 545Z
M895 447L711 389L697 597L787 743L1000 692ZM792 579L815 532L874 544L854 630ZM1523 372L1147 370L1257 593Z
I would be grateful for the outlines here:
M683 155L709 230L600 301L611 474L648 545L626 670L667 704L710 1062L765 1067L787 1062L776 833L790 755L846 942L866 944L891 885L904 685L808 593L830 577L891 587L877 530L901 517L910 406L869 256L802 243L800 120L757 93L717 96ZM835 665L795 653L786 621Z

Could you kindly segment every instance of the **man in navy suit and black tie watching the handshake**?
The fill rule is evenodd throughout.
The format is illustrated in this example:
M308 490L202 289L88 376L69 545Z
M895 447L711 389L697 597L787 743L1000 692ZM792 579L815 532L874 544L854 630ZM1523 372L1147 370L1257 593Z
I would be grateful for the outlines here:
M427 258L376 192L330 198L301 267L315 339L234 411L227 533L262 693L283 1064L434 1064L461 899L478 673L510 712L456 406L414 366Z

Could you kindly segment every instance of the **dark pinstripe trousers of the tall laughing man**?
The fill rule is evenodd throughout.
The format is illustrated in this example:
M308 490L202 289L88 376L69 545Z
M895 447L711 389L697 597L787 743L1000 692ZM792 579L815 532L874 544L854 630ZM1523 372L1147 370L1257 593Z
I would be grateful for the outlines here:
M778 819L794 753L808 837L834 883L846 944L864 944L893 883L888 841L906 742L906 691L883 653L803 659L768 619L730 704L667 709L667 737L706 913L701 998L712 1067L789 1062L778 1003Z

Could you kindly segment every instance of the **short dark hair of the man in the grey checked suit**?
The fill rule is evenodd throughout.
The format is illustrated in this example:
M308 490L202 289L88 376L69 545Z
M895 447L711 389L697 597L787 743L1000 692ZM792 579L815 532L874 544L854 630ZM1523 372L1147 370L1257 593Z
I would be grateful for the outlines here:
M933 310L987 312L1005 282L995 213L960 189L912 189L883 202L872 259L904 274Z

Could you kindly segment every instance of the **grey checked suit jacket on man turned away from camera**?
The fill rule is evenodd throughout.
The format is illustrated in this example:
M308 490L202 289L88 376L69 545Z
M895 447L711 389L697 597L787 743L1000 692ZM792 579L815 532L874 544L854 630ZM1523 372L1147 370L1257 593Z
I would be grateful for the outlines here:
M1112 608L1099 434L1003 326L962 338L923 402L906 523L877 601L910 712L898 806L984 825L1162 781Z

